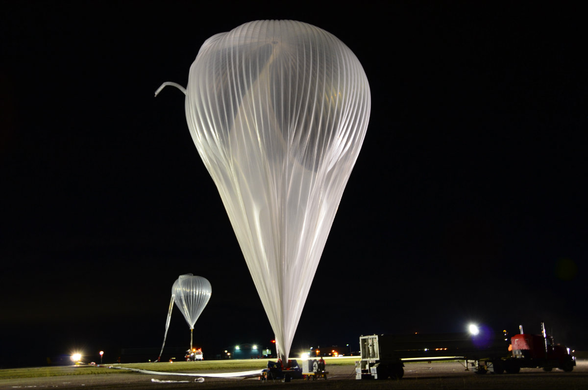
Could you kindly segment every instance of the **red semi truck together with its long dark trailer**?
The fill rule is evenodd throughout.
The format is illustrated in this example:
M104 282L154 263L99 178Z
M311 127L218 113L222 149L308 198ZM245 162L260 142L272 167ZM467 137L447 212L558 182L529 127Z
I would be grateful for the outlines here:
M359 338L361 360L356 362L356 379L400 379L404 364L419 361L459 361L477 374L507 372L520 368L560 368L572 371L576 365L569 348L556 345L541 324L543 335L482 331L413 335L369 335Z

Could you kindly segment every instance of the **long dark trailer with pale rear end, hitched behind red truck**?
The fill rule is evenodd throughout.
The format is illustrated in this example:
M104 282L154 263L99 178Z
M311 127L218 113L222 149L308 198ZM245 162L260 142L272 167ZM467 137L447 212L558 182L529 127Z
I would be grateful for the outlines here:
M356 379L400 379L404 363L422 361L465 361L466 369L470 363L475 371L485 372L502 366L509 353L505 332L370 335L361 336L359 346L362 359L355 365Z

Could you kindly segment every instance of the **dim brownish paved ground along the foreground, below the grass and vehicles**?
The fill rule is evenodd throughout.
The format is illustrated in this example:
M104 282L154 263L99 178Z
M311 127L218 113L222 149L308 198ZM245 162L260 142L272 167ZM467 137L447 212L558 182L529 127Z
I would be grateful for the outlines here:
M400 381L358 381L353 365L327 365L327 370L326 380L290 382L252 378L204 378L203 382L195 382L194 376L113 372L4 379L0 389L588 389L588 359L578 359L573 372L521 369L519 374L484 375L466 371L459 362L410 363Z

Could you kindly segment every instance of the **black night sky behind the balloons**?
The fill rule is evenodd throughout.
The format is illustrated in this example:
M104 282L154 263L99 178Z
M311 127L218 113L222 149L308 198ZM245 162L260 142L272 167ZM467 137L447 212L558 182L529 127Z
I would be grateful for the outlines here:
M186 85L206 38L256 19L336 35L372 89L295 348L544 321L588 349L579 3L319 4L0 5L0 366L159 348L184 273L212 284L205 357L273 338L184 96L153 97ZM174 309L166 346L188 343Z

